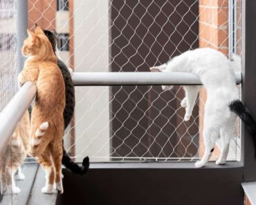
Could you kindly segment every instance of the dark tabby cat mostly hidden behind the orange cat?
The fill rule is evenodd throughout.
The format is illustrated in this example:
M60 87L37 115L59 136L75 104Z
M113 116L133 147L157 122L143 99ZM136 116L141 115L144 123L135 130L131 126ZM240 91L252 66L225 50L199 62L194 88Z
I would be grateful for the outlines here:
M44 30L44 34L48 39L50 40L54 52L56 52L56 46L57 46L57 38L56 35L49 31ZM57 58L57 66L62 71L62 76L65 83L65 95L66 95L66 106L64 108L64 129L67 128L68 124L70 124L71 119L73 117L73 113L75 110L75 88L72 82L71 78L71 70L69 70L63 61L61 61L59 58ZM83 175L89 170L89 157L84 157L82 166L79 166L78 164L75 164L71 160L71 158L66 153L66 150L63 146L63 157L62 157L62 164L66 166L66 168L70 169L73 173Z

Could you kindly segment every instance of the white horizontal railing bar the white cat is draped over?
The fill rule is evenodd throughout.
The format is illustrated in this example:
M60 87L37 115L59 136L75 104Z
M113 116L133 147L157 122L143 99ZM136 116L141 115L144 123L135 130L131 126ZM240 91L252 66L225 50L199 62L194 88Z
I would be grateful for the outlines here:
M241 84L241 72L235 72ZM201 85L189 72L73 72L75 86Z

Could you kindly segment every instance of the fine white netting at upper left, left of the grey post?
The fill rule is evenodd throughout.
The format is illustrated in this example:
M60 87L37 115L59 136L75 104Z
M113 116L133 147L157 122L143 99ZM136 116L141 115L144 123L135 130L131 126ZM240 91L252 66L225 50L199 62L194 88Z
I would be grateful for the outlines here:
M17 92L15 1L0 1L0 110Z

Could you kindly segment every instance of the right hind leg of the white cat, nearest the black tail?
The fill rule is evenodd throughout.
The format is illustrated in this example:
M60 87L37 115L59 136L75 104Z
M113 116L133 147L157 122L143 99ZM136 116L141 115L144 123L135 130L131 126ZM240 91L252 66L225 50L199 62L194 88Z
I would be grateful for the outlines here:
M230 146L230 140L234 133L235 129L235 121L232 123L231 121L228 124L224 124L220 129L221 135L221 154L219 155L219 159L217 159L216 164L225 164L228 157L228 150Z

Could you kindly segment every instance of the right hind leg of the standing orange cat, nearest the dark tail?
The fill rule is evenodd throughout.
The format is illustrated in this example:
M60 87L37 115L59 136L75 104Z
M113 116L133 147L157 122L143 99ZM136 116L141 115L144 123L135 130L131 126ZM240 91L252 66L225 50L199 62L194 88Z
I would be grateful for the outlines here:
M62 186L62 140L53 141L51 146L51 155L55 166L55 186L60 193L63 193Z

